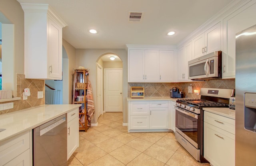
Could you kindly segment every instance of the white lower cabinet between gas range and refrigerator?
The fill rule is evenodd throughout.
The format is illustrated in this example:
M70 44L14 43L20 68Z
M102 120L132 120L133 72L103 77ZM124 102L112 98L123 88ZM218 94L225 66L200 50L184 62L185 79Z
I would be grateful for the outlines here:
M235 120L204 111L204 158L213 166L235 165Z

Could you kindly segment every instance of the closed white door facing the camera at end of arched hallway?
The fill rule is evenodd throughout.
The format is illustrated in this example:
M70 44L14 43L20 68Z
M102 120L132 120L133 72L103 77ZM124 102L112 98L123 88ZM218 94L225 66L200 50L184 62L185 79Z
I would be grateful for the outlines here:
M123 69L104 69L105 111L122 112L122 73Z

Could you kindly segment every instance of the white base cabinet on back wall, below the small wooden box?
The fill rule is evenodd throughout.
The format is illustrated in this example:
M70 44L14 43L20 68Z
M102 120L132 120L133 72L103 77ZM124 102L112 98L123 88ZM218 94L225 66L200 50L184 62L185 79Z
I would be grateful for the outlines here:
M128 131L168 129L168 101L128 101Z

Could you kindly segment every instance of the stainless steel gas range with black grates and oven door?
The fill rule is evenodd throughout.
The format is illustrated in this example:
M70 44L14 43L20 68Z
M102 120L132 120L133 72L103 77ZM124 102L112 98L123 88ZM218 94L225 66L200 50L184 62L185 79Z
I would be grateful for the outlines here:
M204 107L228 107L234 89L201 88L201 99L176 101L176 140L197 160L204 158Z

